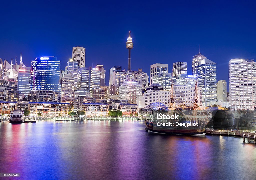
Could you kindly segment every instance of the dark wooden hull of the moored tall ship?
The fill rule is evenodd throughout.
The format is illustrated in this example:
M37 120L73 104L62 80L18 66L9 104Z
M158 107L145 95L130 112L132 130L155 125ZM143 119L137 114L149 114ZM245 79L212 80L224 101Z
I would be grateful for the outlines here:
M170 135L194 135L194 136L204 136L206 134L206 128L194 128L194 129L178 129L178 128L157 128L154 129L154 125L152 122L146 120L146 126L148 131L151 133L158 133L158 134L170 134Z

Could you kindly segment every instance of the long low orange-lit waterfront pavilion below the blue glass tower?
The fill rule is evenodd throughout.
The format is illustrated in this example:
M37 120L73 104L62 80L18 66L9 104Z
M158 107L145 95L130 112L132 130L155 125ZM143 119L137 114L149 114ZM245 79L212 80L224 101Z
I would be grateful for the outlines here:
M68 116L69 103L56 102L28 102L30 116L57 117L59 114Z

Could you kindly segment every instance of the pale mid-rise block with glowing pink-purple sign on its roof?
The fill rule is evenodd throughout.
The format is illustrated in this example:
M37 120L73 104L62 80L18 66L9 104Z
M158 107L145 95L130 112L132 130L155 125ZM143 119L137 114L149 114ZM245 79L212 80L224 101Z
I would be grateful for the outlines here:
M119 99L128 99L131 104L136 104L137 99L142 96L142 85L136 81L124 81L119 87Z

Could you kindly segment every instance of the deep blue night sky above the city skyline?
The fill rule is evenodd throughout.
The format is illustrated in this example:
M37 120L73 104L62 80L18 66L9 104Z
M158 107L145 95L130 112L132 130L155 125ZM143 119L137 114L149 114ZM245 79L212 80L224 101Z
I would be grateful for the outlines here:
M255 54L255 1L5 1L1 2L0 58L53 55L65 69L72 47L86 47L86 66L127 69L131 30L133 70L148 74L154 63L188 62L200 51L217 63L217 80L228 81L232 58Z

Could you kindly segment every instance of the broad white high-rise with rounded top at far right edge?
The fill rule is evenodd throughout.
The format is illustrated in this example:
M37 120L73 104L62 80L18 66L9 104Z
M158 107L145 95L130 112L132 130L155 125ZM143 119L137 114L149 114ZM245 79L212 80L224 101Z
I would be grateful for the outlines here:
M229 61L229 102L233 109L254 109L256 106L256 62L249 59Z

